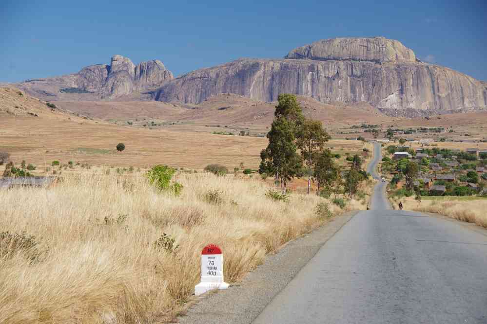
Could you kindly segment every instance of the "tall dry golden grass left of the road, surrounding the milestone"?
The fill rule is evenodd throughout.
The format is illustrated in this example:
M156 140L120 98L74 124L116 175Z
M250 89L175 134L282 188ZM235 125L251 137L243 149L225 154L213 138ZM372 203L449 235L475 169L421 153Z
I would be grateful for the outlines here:
M285 203L266 198L261 181L177 178L179 197L157 192L140 174L81 174L47 189L1 190L0 228L35 235L39 257L0 253L0 323L168 320L193 293L206 244L222 247L232 283L266 253L327 221L315 214L327 200L313 195ZM219 191L220 203L205 199L210 190ZM155 249L163 233L175 238L175 252Z

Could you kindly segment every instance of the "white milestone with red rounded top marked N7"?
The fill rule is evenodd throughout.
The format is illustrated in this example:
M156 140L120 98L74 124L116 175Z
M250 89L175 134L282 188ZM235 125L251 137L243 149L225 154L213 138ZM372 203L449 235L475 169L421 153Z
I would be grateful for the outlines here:
M195 286L195 295L209 290L227 289L230 285L223 281L223 254L214 244L207 245L201 252L201 282Z

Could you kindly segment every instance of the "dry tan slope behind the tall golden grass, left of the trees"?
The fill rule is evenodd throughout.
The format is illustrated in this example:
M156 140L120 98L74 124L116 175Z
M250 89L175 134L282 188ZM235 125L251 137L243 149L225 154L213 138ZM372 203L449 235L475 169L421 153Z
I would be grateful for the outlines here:
M120 142L126 149L117 153L115 146ZM265 138L113 125L59 109L51 111L44 102L18 89L0 89L0 150L18 163L26 160L43 165L60 160L201 169L215 162L231 168L243 162L257 167L266 144Z

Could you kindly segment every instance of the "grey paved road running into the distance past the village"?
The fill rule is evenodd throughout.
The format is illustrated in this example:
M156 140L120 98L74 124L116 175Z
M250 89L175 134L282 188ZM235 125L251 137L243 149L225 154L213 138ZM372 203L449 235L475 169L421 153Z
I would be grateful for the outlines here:
M254 323L487 323L487 231L390 210L383 192Z

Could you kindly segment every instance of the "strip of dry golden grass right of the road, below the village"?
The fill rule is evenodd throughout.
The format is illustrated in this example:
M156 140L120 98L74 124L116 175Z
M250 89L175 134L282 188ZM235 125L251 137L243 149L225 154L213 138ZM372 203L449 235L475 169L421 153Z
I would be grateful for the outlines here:
M487 210L487 199L438 197L431 200L423 199L421 204L418 204L412 197L400 200L403 201L404 209L436 213L487 228L487 214L485 212ZM397 198L392 201L395 209L397 209L398 202Z

